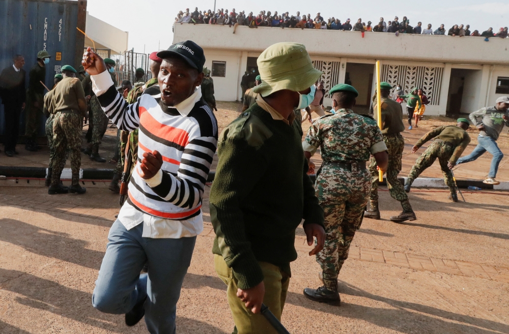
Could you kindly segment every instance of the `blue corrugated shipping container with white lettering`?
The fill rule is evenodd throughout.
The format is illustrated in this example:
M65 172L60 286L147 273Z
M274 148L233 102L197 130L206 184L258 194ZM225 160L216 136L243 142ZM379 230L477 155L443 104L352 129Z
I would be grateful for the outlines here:
M83 54L87 1L69 0L0 0L0 70L12 66L12 58L25 58L26 84L29 72L37 62L37 52L46 50L51 55L46 65L44 84L51 89L53 77L64 65L78 68ZM39 135L44 136L41 115ZM4 129L4 106L0 106L0 135ZM24 113L20 117L19 134L24 134Z

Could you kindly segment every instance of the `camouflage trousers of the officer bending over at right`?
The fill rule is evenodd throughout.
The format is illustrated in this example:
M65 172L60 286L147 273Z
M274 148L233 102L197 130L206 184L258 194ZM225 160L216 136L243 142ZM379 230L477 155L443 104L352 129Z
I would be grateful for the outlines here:
M449 187L449 191L451 193L456 193L456 185L454 183L453 172L451 172L449 167L447 167L447 163L453 153L453 146L446 145L445 142L442 141L434 141L415 162L415 165L412 167L410 174L408 174L407 183L412 184L414 179L416 179L426 168L433 165L435 160L438 158L440 168L444 174L445 184L447 187Z

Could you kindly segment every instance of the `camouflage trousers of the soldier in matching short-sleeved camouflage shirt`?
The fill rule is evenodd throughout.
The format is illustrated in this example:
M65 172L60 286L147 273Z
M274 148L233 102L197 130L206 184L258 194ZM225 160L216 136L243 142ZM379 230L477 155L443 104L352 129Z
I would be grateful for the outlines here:
M366 169L353 171L326 164L317 177L315 191L324 210L325 245L317 254L324 285L337 289L337 276L348 258L350 244L370 194L370 175Z

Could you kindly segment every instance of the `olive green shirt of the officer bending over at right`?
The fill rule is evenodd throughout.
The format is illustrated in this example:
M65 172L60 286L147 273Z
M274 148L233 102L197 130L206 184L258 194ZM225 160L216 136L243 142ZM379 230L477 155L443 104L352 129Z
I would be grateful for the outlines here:
M455 125L447 125L431 130L422 136L415 145L420 147L431 138L441 139L455 147L454 153L449 160L452 162L456 162L461 157L461 154L470 142L470 136L465 130Z

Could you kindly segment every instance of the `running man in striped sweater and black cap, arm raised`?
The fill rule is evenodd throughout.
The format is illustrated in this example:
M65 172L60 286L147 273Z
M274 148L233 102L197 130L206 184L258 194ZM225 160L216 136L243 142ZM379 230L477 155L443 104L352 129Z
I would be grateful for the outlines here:
M129 198L109 231L92 304L101 312L125 313L128 326L145 315L151 333L175 333L180 289L203 230L202 196L217 122L202 99L202 48L185 41L157 56L163 59L161 94L144 94L128 105L103 59L90 48L83 55L106 115L121 130L139 128ZM139 274L145 264L148 276Z

